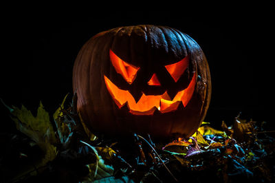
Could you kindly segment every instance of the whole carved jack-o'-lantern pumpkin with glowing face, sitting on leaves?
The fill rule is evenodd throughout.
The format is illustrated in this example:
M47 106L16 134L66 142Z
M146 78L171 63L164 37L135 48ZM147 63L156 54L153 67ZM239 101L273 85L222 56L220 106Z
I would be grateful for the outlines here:
M173 70L178 71L173 75ZM206 57L190 36L164 26L136 25L100 32L83 45L74 63L73 89L78 112L96 135L188 138L206 116L211 81ZM190 91L185 92L188 99L176 101L184 89ZM162 101L174 107L162 110L164 105L155 102L142 111L145 104L135 106L142 95L147 100L164 93L171 99ZM135 102L120 102L118 94Z

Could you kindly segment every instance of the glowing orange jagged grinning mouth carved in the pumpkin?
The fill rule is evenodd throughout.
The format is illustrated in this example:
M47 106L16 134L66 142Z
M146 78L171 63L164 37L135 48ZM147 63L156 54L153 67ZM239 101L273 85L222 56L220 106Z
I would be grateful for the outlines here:
M131 114L152 115L155 110L158 110L161 113L175 111L180 103L186 107L189 100L192 98L195 89L196 74L193 74L188 87L177 92L173 100L170 99L167 92L164 92L162 95L155 96L142 94L142 97L137 101L137 103L128 90L119 89L111 82L111 80L109 80L109 78L107 78L107 76L104 76L104 80L109 94L111 94L113 101L119 108L126 104Z

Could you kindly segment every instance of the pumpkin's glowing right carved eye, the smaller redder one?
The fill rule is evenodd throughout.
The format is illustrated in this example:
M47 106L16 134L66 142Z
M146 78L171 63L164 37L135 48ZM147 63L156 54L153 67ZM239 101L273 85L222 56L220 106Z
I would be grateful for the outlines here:
M182 59L177 63L173 63L165 66L165 68L170 73L170 75L175 80L175 82L177 82L180 76L184 74L184 71L188 67L188 61L189 61L188 56L186 56L184 59Z

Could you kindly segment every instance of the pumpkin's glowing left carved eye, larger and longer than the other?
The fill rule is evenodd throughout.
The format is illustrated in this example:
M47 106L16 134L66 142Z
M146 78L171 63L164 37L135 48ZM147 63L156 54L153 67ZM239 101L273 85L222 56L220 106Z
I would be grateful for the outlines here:
M137 71L140 69L140 67L135 67L134 65L122 61L122 59L116 56L112 50L110 50L110 59L113 67L115 67L115 71L122 75L124 80L126 80L127 83L131 85L133 80L135 80Z

